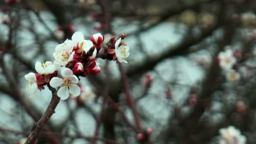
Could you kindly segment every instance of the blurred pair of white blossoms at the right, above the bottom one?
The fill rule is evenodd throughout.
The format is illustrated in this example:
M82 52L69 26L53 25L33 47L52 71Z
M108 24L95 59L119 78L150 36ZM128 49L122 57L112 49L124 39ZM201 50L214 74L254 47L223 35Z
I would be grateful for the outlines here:
M228 81L236 81L240 79L240 74L236 72L235 69L232 69L237 61L232 50L227 49L226 51L220 52L218 60L219 66L224 69Z

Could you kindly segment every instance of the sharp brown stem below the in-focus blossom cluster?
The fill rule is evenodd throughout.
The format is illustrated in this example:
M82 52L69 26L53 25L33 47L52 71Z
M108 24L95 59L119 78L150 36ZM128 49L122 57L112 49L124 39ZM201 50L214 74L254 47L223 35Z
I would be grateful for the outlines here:
M52 93L53 93L53 96L51 98L50 104L48 105L45 113L40 118L40 120L33 125L32 132L27 138L27 141L25 142L25 144L34 144L43 126L48 122L51 116L55 113L55 109L59 104L60 98L57 96L56 90L53 90Z

